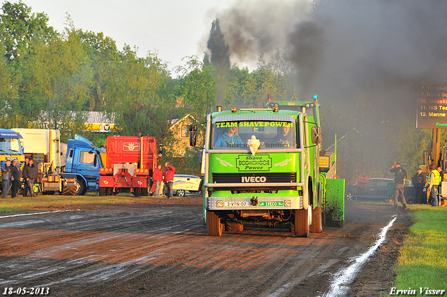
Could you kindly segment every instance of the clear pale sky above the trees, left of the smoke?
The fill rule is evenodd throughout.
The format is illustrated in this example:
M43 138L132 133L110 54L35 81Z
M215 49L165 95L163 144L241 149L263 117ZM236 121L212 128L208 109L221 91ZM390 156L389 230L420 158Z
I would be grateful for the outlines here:
M14 2L14 0L10 0ZM171 70L182 59L203 57L207 35L219 12L236 0L22 0L33 13L45 13L59 32L67 14L75 28L103 32L122 50L124 43L138 48L138 57L158 51Z

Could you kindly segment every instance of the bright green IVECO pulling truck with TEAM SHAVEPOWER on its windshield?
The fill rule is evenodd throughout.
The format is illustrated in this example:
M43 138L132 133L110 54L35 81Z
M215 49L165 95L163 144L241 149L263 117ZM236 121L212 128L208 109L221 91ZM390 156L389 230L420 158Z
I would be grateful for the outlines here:
M344 180L321 152L318 100L271 101L207 115L204 219L209 236L244 225L284 226L295 236L344 225ZM198 124L189 126L196 145Z

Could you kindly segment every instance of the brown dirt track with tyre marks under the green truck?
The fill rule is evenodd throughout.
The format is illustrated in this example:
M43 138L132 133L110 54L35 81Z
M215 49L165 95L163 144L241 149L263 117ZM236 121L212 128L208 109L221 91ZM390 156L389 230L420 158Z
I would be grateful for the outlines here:
M332 275L365 252L396 214L388 239L351 284L351 296L379 296L393 280L411 223L407 212L350 201L344 229L309 238L246 229L216 238L207 236L202 199L191 197L0 217L0 289L50 287L50 296L323 296Z

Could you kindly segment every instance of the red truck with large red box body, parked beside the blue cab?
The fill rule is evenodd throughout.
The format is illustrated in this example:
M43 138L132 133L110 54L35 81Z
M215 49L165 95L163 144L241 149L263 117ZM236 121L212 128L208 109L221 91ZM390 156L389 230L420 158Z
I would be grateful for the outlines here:
M156 163L155 138L108 136L106 166L99 169L99 196L124 191L147 196Z

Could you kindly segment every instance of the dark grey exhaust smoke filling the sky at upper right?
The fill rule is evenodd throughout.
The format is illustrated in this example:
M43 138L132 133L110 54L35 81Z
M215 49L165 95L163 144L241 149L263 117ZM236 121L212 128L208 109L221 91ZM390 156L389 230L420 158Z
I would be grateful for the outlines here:
M231 63L286 51L305 96L416 114L421 83L447 80L447 1L241 1L216 15Z

